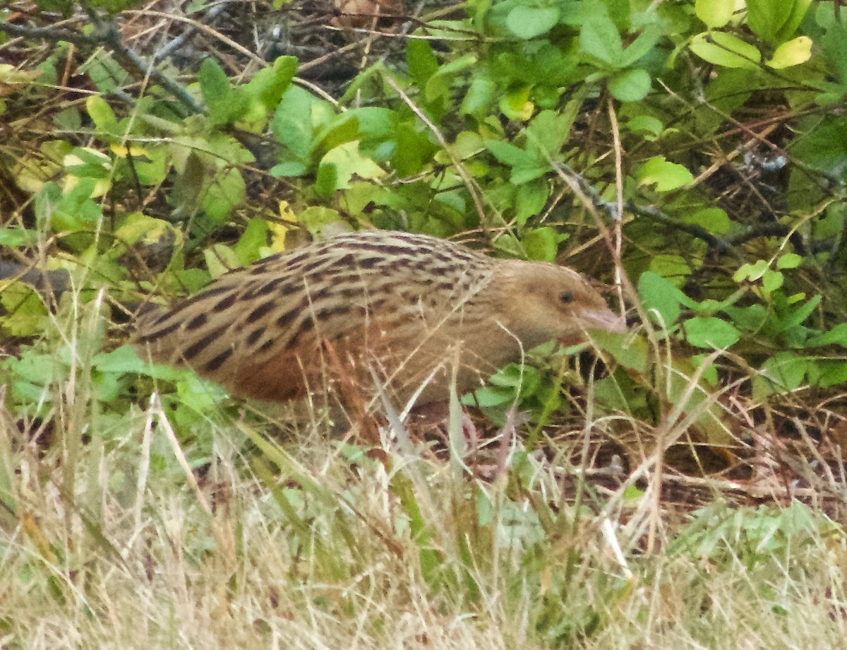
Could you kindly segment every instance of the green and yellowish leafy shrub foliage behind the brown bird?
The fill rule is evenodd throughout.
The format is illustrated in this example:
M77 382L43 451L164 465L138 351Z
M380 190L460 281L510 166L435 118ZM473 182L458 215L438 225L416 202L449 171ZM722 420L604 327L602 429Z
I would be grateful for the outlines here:
M622 270L656 328L651 341L671 346L669 368L695 381L711 351L728 350L761 400L844 381L845 296L828 282L847 262L843 8L501 0L466 9L414 25L403 60L385 58L329 93L295 83L292 57L237 77L207 57L184 94L163 67L164 81L154 75L120 103L122 89L138 90L138 72L98 49L76 70L93 89L85 102L51 114L61 131L14 160L3 153L33 201L31 219L4 226L0 242L46 256L51 269L87 269L75 276L83 301L101 287L119 299L170 296L283 249L295 225L315 235L478 231L496 255L552 262L605 236L620 200L631 242ZM31 69L0 66L3 110L47 97L66 54L60 45ZM742 126L757 111L789 124L782 140ZM776 172L756 167L774 152ZM761 176L755 208L712 185L720 165ZM772 186L777 196L763 198ZM608 266L600 274L611 277ZM2 307L4 336L34 337L49 314L20 281ZM598 341L625 369L612 369L621 386L601 386L606 403L650 402L630 389L660 402L679 394L673 381L645 380L656 351L643 339ZM536 416L561 408L558 371L536 365L503 369L480 403L502 411L517 400ZM717 369L698 372L703 390L720 380Z

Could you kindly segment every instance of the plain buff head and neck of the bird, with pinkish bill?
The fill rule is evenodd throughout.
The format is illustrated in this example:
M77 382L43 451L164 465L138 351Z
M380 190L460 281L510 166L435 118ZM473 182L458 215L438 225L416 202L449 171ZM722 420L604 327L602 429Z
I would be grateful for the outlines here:
M591 330L623 333L626 324L614 314L583 276L556 264L506 262L500 266L502 324L524 347L560 339L576 342Z

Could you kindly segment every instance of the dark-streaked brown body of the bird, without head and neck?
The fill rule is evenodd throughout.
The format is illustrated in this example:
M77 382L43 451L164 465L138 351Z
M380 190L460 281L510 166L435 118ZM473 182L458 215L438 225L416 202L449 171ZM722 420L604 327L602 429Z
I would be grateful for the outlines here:
M435 237L337 236L230 272L143 319L136 346L246 397L302 397L345 373L368 383L374 366L407 395L489 318L495 263Z

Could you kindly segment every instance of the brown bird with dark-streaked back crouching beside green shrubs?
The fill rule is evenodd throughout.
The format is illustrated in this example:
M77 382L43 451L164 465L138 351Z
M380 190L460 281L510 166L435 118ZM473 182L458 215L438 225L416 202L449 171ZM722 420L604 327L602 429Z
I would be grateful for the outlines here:
M446 400L454 376L458 392L473 390L524 350L592 329L623 331L623 319L576 271L362 231L223 275L141 319L135 344L237 396L282 402L341 384L373 394L377 379L405 406Z

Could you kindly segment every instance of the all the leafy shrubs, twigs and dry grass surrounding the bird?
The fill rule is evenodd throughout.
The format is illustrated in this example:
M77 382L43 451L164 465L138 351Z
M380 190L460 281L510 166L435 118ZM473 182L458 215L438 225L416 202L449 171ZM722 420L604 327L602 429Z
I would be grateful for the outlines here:
M0 647L843 647L841 3L0 21ZM568 264L640 325L381 462L126 345L365 227Z

